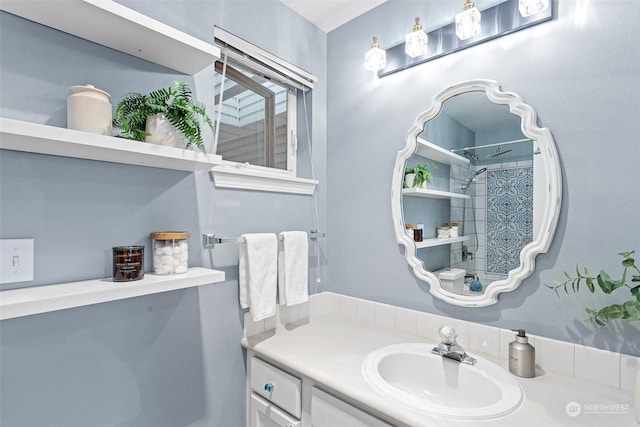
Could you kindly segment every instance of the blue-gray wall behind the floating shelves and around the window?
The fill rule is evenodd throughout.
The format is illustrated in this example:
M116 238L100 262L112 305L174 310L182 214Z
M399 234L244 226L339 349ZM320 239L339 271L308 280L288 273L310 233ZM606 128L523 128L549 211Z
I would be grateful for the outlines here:
M209 42L219 25L319 77L309 101L325 229L326 34L273 0L122 3ZM186 80L198 100L212 102L212 70L184 76L4 12L0 27L2 117L64 127L68 87L88 83L114 103L129 91ZM300 134L299 168L308 177ZM3 320L0 425L244 424L238 249L204 251L200 235L309 230L310 196L218 190L206 172L6 150L0 192L0 238L35 239L35 281L27 285L110 276L112 246L148 246L149 232L167 229L191 232L191 265L227 274L226 282L197 289ZM312 254L323 257L324 245L312 244ZM325 286L321 269L312 291Z

